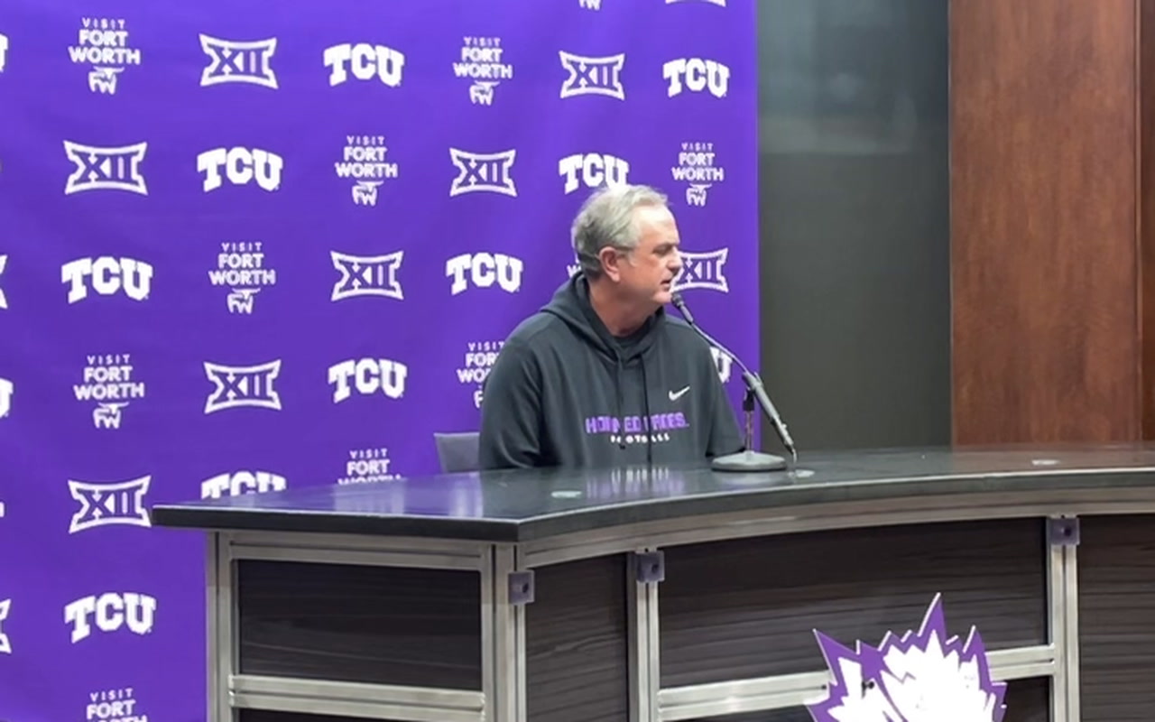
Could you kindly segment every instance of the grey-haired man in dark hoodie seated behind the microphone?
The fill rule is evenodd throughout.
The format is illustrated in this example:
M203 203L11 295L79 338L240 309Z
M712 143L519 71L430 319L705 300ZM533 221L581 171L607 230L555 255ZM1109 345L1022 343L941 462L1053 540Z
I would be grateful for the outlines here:
M580 269L506 340L485 380L480 468L604 468L744 448L710 348L665 312L681 270L666 198L595 192L571 231Z

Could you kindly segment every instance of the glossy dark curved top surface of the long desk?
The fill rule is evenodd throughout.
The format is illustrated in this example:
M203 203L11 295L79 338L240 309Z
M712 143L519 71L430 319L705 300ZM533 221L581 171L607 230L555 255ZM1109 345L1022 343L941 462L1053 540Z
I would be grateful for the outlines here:
M519 542L758 508L1108 487L1155 490L1155 445L839 452L765 474L706 464L446 474L162 504L151 513L161 527Z

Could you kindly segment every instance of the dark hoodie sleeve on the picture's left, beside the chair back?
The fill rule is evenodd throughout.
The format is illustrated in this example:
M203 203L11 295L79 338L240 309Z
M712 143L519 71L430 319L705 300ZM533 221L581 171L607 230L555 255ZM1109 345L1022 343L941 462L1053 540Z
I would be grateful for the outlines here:
M507 342L485 378L479 461L484 469L538 466L542 374L529 349Z

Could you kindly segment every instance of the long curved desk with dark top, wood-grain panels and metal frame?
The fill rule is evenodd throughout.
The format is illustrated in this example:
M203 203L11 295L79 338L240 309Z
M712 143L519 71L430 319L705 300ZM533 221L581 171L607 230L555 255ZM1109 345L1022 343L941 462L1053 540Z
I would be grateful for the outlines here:
M814 631L941 594L1005 722L1155 704L1155 448L437 475L159 505L208 545L213 722L805 721Z

